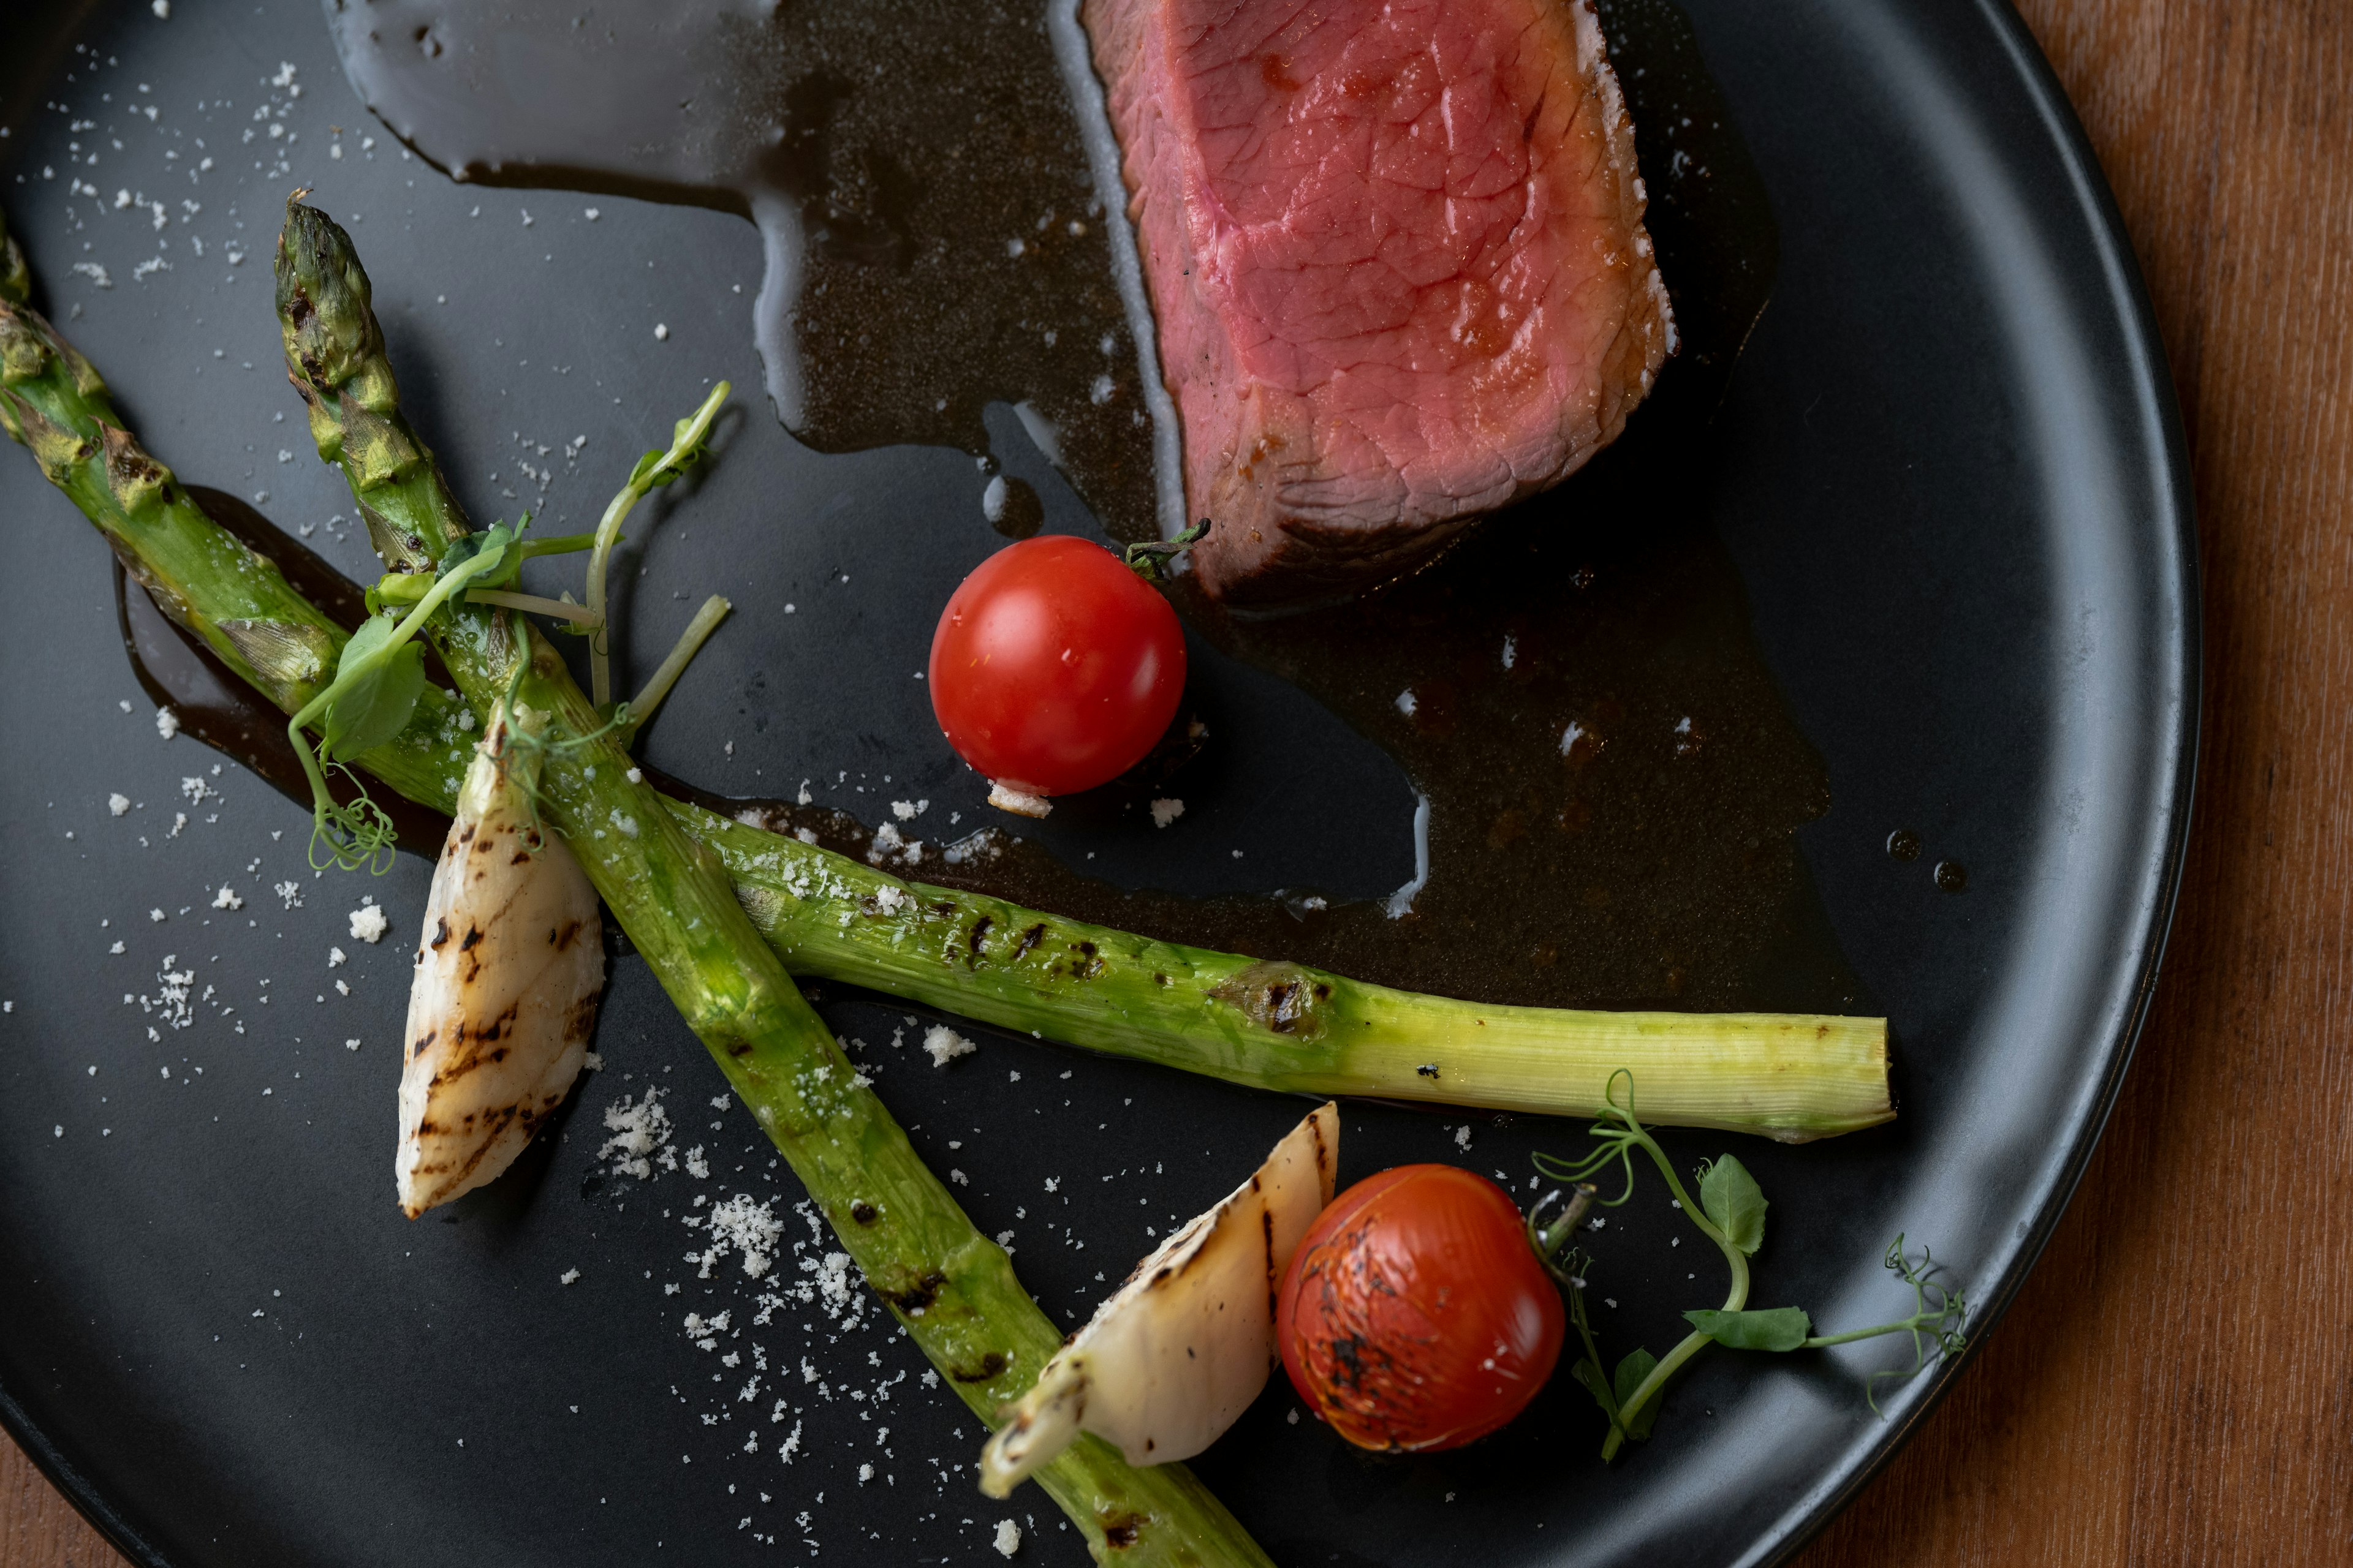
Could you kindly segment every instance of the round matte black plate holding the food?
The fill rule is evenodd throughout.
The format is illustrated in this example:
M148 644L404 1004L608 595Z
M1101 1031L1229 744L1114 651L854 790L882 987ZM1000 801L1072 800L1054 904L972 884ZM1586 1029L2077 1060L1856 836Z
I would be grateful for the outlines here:
M532 503L579 527L704 376L760 386L734 294L760 275L741 221L447 183L367 120L301 0L176 0L169 21L148 5L45 12L12 28L0 200L47 303L184 477L266 491L285 527L325 524L313 543L346 569L367 569L365 541L329 522L348 503L306 451L268 315L268 242L296 181L353 223L409 400L485 515ZM1758 1293L1826 1324L1894 1316L1878 1255L1906 1229L1967 1286L1984 1333L2099 1135L2174 896L2198 599L2169 381L2099 169L2007 7L1692 0L1689 14L1779 223L1779 282L1729 386L1708 515L1828 764L1833 806L1800 832L1802 856L1901 1053L1899 1124L1739 1147L1777 1204ZM273 85L282 61L299 101ZM292 103L285 172L252 118L273 101ZM334 125L341 160L325 155ZM1642 127L1647 155L1657 129ZM191 179L202 155L216 169ZM68 179L99 195L71 197ZM115 207L118 188L167 202L172 270L134 275L158 230L151 209ZM113 287L73 273L85 261ZM565 463L574 435L588 444ZM995 435L1049 527L1087 529L1016 428ZM725 588L741 607L652 759L736 792L840 771L831 799L868 823L911 795L972 820L976 788L911 679L929 607L998 543L972 461L821 458L767 418L729 442L682 510L649 524L645 649L685 618L673 595ZM522 482L518 461L553 477ZM372 886L301 870L296 806L233 764L216 773L186 738L158 741L106 552L21 456L0 461L0 520L16 590L0 616L0 1415L134 1561L755 1563L809 1556L802 1540L831 1561L995 1561L1005 1516L1033 1526L1024 1561L1080 1561L1035 1493L1000 1507L969 1488L976 1432L948 1399L913 1378L887 1403L847 1399L920 1375L885 1331L831 1342L779 1324L715 1352L682 1333L685 1312L722 1305L744 1331L755 1281L680 1262L692 1178L595 1180L600 1112L659 1084L715 1180L791 1192L739 1110L704 1110L720 1084L635 959L616 961L609 1067L562 1135L478 1201L402 1222L388 1112L402 926L426 865L402 858ZM1297 780L1245 766L1191 839L1111 835L1104 865L1191 891L1393 886L1409 858L1395 769L1280 682L1212 677L1240 722L1332 757L1348 816L1369 825L1337 830L1306 788L1313 766ZM113 818L111 792L134 809ZM191 820L172 837L176 811ZM1885 853L1897 827L1922 835L1920 860ZM1967 865L1965 893L1934 889L1944 858ZM242 910L209 907L224 884ZM348 933L362 893L398 917L384 945ZM336 945L351 959L329 969ZM122 1004L153 1004L172 959L195 973L186 1030ZM835 994L826 1011L873 1044L918 1147L969 1171L960 1197L986 1229L1019 1234L1026 1281L1066 1321L1101 1291L1096 1269L1115 1279L1146 1251L1146 1225L1217 1197L1299 1114L993 1034L934 1074L889 1053L904 1013L887 1001ZM1579 1143L1480 1119L1464 1154L1457 1126L1351 1107L1344 1178L1445 1157L1525 1175L1527 1150ZM1668 1143L1699 1159L1725 1140ZM1715 1288L1685 1281L1682 1265L1704 1265L1645 1208L1666 1218L1657 1187L1605 1248L1619 1347L1661 1347ZM718 1356L753 1340L772 1371L746 1403L755 1368ZM805 1354L831 1403L800 1382ZM1885 1345L1708 1354L1614 1472L1567 1380L1506 1439L1412 1462L1294 1425L1275 1387L1198 1469L1285 1563L1774 1561L1958 1371L1882 1389L1882 1420L1861 1373L1894 1359ZM772 1389L805 1406L791 1467Z

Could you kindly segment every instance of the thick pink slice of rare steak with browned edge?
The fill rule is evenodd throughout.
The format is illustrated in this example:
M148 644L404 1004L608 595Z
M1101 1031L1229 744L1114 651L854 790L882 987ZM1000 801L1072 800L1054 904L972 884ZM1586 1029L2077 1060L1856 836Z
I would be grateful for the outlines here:
M1673 353L1588 0L1085 0L1212 595L1393 576Z

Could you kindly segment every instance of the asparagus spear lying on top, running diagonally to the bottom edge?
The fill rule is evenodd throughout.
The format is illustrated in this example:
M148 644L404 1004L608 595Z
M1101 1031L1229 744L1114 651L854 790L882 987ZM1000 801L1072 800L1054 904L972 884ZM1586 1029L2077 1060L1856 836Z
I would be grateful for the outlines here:
M320 456L339 463L388 562L438 567L468 536L431 454L400 414L367 275L351 237L287 202L278 242L287 374ZM784 973L720 860L635 778L624 738L515 611L449 602L431 635L478 708L506 696L548 715L541 809L671 1001L784 1152L842 1248L908 1338L984 1422L1061 1342L1012 1258L972 1227L868 1079ZM1040 1472L1096 1561L1264 1563L1231 1514L1176 1467L1132 1469L1108 1443Z

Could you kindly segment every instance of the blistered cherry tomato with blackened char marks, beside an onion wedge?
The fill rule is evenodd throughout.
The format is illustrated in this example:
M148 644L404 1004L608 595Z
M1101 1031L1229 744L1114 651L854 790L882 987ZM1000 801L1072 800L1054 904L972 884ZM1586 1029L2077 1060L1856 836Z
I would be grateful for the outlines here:
M1339 1194L1275 1298L1282 1371L1358 1448L1461 1448L1560 1359L1560 1291L1485 1175L1398 1166Z

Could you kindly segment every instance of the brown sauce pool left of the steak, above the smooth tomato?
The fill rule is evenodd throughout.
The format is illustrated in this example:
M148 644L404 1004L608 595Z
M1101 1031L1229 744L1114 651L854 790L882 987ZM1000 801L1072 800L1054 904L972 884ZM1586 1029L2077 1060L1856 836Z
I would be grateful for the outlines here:
M1158 531L1113 228L1038 0L379 0L329 21L367 106L461 181L758 223L767 390L805 444L981 454L981 411L1009 402L1106 527Z

